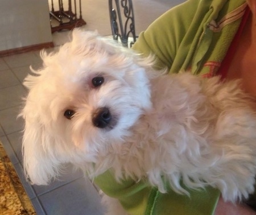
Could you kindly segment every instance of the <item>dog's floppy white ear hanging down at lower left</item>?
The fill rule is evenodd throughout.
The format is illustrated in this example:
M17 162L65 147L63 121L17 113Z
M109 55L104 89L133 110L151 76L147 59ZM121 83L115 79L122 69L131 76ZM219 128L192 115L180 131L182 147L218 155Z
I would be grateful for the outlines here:
M23 166L32 184L46 185L57 174L55 167L59 162L55 160L55 152L47 148L47 142L51 141L42 125L26 121L22 143Z

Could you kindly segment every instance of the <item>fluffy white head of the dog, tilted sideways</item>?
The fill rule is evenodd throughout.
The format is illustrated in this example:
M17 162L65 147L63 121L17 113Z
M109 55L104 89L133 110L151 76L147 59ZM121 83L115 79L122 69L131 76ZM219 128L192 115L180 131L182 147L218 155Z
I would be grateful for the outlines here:
M24 81L21 113L24 168L35 184L47 184L62 163L97 162L151 106L147 60L112 39L74 30L71 42L42 59Z

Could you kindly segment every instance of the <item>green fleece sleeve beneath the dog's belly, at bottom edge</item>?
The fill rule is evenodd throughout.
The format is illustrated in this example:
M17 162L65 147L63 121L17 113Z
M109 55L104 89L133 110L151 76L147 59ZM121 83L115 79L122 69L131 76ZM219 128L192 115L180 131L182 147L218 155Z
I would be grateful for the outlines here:
M212 187L197 191L188 189L189 196L175 193L171 188L160 193L146 181L126 179L118 182L111 170L93 182L106 195L118 199L126 212L133 215L210 215L214 214L220 196L220 191Z

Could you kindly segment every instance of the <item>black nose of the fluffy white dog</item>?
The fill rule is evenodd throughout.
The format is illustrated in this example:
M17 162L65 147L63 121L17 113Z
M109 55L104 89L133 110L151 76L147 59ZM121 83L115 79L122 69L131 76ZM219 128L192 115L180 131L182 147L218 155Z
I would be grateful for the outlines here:
M108 107L101 107L92 115L93 125L99 127L100 129L104 129L106 126L108 126L111 119L112 116Z

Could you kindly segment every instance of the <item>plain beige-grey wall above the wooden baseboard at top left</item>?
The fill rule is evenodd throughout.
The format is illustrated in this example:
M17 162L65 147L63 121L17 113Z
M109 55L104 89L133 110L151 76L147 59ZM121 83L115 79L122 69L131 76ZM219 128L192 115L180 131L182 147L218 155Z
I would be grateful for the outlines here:
M47 0L1 0L0 51L49 42Z

